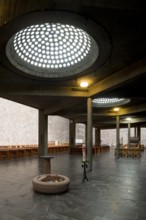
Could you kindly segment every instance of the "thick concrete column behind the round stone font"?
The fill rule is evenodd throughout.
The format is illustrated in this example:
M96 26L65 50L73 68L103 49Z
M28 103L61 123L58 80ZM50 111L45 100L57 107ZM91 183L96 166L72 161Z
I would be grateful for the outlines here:
M48 155L48 116L39 110L39 156Z

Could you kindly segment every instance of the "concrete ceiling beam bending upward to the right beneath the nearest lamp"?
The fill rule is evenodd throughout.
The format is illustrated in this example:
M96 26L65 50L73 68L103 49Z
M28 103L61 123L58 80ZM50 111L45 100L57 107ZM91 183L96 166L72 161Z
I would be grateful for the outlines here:
M66 97L93 97L97 94L110 91L136 77L146 73L146 59L131 64L125 69L94 84L89 89L63 86L47 86L28 84L0 84L0 95L38 95L38 96L66 96Z

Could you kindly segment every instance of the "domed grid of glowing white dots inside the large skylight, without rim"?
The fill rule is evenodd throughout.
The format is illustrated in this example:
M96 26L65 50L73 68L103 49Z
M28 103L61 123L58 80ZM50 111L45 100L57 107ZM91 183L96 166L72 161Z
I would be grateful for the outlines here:
M91 40L79 28L65 24L32 25L14 36L17 55L41 68L66 68L83 60L90 51Z

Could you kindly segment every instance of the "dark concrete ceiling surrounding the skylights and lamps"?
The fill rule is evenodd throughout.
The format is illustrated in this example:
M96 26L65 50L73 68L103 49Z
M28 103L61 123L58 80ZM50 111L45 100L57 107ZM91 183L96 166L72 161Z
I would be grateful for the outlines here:
M109 37L111 52L100 66L81 76L49 80L28 77L13 68L5 56L5 44L21 17L35 11L61 10L83 15L100 25ZM0 96L8 100L86 123L87 98L123 97L121 123L132 116L135 125L146 122L146 3L137 0L0 0ZM27 23L27 20L26 20ZM11 27L10 27L11 26ZM9 28L8 28L9 27ZM79 82L88 79L88 89ZM94 108L93 126L115 127L112 108Z

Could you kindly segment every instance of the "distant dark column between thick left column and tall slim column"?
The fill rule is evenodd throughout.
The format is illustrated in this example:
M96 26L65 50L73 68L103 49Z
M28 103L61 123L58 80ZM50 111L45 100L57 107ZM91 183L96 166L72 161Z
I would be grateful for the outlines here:
M75 147L76 138L76 124L73 120L69 123L69 152L71 153L71 148Z

